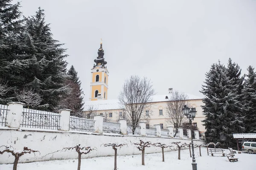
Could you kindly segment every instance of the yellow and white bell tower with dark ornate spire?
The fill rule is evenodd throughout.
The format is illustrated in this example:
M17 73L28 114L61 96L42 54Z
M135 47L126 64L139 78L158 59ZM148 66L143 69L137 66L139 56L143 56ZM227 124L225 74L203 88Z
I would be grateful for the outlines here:
M98 50L98 57L94 59L96 65L91 69L90 100L108 99L108 69L105 66L107 62L103 58L104 50L102 42Z

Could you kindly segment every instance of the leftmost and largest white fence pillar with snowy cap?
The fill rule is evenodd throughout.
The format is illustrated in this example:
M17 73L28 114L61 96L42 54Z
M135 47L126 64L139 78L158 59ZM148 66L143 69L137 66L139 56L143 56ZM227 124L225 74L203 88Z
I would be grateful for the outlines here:
M19 129L23 105L25 104L21 102L10 102L7 105L8 110L10 110L6 116L7 127Z

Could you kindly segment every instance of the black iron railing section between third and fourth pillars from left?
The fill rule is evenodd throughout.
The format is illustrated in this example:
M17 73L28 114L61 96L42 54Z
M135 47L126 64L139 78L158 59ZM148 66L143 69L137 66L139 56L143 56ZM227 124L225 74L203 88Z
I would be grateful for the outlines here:
M120 123L118 120L105 119L103 121L103 132L121 134Z

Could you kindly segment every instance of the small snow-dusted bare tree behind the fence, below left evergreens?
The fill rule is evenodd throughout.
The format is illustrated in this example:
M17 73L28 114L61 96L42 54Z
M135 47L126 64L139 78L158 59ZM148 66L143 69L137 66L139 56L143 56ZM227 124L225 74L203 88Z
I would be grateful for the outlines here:
M39 106L43 100L32 88L24 88L19 94L17 94L16 98L19 101L26 103L28 108L29 106L32 108Z

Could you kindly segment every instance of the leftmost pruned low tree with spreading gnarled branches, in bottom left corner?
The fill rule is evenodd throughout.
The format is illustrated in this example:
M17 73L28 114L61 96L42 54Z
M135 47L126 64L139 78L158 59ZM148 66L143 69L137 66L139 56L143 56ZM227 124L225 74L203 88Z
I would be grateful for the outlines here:
M28 147L23 147L23 151L14 150L14 148L9 145L0 146L0 147L5 147L3 151L0 151L0 154L8 152L8 153L12 153L12 155L15 156L15 160L13 163L13 170L17 170L17 164L18 164L20 156L23 156L25 153L34 153L34 155L35 155L35 152L39 152L38 150L32 150L32 149L29 149Z

